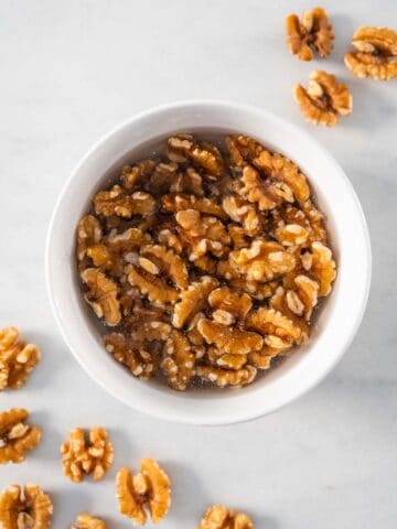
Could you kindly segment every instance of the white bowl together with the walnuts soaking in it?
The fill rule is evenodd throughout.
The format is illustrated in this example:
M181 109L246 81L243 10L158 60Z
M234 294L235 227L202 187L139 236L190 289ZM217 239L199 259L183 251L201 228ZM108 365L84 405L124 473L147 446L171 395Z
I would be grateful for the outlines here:
M152 110L96 145L56 207L46 263L87 371L136 409L200 424L258 417L318 382L358 327L371 276L365 220L334 160L283 120L218 101ZM173 391L153 374L210 387Z

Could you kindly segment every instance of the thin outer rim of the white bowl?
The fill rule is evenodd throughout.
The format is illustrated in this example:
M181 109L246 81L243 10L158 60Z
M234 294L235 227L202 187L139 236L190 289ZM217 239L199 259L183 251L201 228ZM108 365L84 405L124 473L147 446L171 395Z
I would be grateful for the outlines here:
M356 313L353 324L350 323L350 333L344 342L344 346L339 348L337 354L334 354L332 361L328 364L326 369L323 369L321 373L318 373L316 376L313 376L313 378L310 380L310 384L307 384L303 388L298 388L294 391L289 392L288 396L280 397L278 401L272 403L271 406L269 406L268 403L266 403L266 406L258 404L257 409L255 410L251 409L245 413L230 412L229 414L225 414L222 417L216 417L216 418L211 417L206 419L203 419L201 417L197 419L194 415L180 413L180 412L175 413L174 411L164 412L162 410L161 412L159 412L155 406L148 408L148 406L141 406L139 400L132 403L129 399L124 398L117 391L117 389L110 388L100 377L94 374L90 367L88 366L88 363L86 363L81 357L81 355L75 350L75 348L71 344L68 335L63 325L63 319L56 303L55 293L52 287L52 279L51 279L51 257L52 257L52 245L55 236L54 227L55 227L56 218L60 214L61 205L65 196L67 195L67 192L72 182L78 174L79 170L84 166L86 161L89 160L90 156L94 155L95 152L101 145L106 144L111 137L116 136L118 132L121 132L132 122L137 122L139 120L153 117L159 112L170 111L170 110L175 111L186 107L194 107L194 108L223 107L224 109L255 114L258 116L258 119L262 117L265 119L279 123L282 128L289 129L293 133L299 133L307 142L311 143L313 148L321 154L321 156L324 158L328 161L328 163L333 166L333 170L335 171L335 173L337 173L339 176L344 181L346 190L348 190L350 197L355 203L355 206L356 206L355 214L357 215L357 219L360 220L363 240L364 240L363 250L366 255L366 259L364 262L365 284L363 284L362 298L360 300L360 311ZM153 134L153 138L155 136ZM45 283L46 283L47 295L50 299L50 305L54 314L55 321L57 323L58 330L61 332L61 335L63 336L64 342L66 343L68 349L71 350L75 359L78 361L78 364L89 375L89 377L93 378L101 388L104 388L108 393L110 393L112 397L124 402L128 407L133 408L139 412L147 413L151 417L155 417L158 419L163 419L163 420L184 423L184 424L223 425L223 424L246 422L246 421L262 417L265 414L271 413L282 408L287 403L292 402L293 400L309 392L313 387L320 384L326 377L326 375L335 367L335 365L340 361L340 359L342 358L342 356L345 354L346 349L350 347L351 343L353 342L365 313L365 309L366 309L368 295L369 295L371 280L372 280L372 250L371 250L369 231L368 231L367 223L365 219L365 215L351 181L348 180L347 175L343 171L342 166L333 158L333 155L308 131L288 121L287 119L278 115L275 115L273 112L268 111L266 109L256 107L254 105L247 105L247 104L233 101L233 100L225 100L225 99L183 99L183 100L178 100L169 104L159 105L148 110L141 111L137 115L133 115L132 117L124 120L120 125L114 127L109 132L103 134L101 138L99 138L99 140L97 140L90 147L90 149L88 149L88 151L81 158L79 162L75 165L74 170L71 172L65 184L63 185L62 191L55 202L55 206L51 215L47 236L46 236L46 242L45 242Z

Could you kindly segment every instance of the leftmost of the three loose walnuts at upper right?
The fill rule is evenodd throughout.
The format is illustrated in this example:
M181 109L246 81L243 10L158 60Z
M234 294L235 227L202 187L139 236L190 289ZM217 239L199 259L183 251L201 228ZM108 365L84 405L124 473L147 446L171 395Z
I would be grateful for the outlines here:
M322 58L332 52L334 34L326 11L322 8L304 11L301 20L297 14L290 14L286 19L286 31L292 55L298 55L301 61L311 61L314 52Z

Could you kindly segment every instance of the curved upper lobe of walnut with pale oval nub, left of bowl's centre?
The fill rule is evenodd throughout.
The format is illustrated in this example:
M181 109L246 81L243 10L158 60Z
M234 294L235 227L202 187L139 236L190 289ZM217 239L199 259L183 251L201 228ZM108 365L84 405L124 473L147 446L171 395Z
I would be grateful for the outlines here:
M187 288L189 276L186 264L173 250L168 250L160 245L148 245L143 246L140 253L146 258L151 258L152 261L150 262L153 262L154 259L154 267L158 268L157 273L167 274L180 289ZM147 271L150 272L150 270Z

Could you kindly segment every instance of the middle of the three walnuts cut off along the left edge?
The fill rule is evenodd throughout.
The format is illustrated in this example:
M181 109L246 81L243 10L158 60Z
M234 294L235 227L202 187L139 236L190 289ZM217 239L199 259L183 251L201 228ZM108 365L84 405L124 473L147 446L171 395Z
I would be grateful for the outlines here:
M25 452L40 443L41 430L25 424L28 417L28 411L22 408L0 413L0 464L21 463Z

